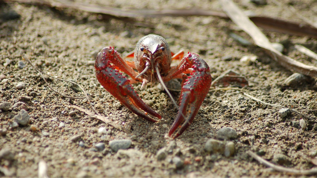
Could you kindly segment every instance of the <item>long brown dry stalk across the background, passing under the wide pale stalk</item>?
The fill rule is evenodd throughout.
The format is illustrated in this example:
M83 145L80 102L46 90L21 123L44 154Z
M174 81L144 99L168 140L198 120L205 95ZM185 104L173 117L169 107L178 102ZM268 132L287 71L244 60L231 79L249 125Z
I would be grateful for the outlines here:
M91 13L99 13L113 16L118 20L122 20L124 22L133 21L134 25L142 26L142 27L150 27L154 28L155 24L148 24L144 22L136 22L133 19L125 19L118 17L163 17L163 16L217 16L220 18L229 18L225 13L219 11L212 10L200 10L200 9L165 9L165 10L149 10L149 9L141 9L141 10L129 10L129 9L120 9L113 8L109 6L97 5L97 4L87 4L87 3L78 3L71 1L54 1L54 0L4 0L5 2L17 2L17 3L28 3L38 6L49 6L55 8L70 8L77 9L82 11L87 11ZM311 25L302 25L294 22L287 22L283 20L279 20L276 18L262 17L262 16L252 16L250 19L256 23L257 26L262 27L264 29L286 33L290 35L304 35L313 38L317 38L317 29Z

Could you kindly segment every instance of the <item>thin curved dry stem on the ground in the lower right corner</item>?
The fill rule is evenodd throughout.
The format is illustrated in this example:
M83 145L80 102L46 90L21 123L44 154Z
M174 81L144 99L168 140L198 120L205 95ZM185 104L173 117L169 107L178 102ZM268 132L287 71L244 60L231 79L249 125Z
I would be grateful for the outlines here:
M283 166L275 165L271 162L266 161L261 156L258 156L257 154L253 153L252 151L247 151L247 154L251 156L256 161L260 162L261 164L273 168L276 171L279 172L285 172L285 173L292 173L292 174L301 174L301 175L311 175L311 174L317 174L317 169L310 169L310 170L298 170L294 168L285 168Z

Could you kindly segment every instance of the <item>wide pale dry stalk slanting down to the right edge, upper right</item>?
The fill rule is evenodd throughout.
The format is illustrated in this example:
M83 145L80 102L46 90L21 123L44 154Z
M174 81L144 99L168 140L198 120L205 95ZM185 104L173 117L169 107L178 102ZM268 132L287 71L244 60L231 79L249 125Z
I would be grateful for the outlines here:
M236 6L235 3L231 0L219 0L219 2L222 4L223 10L230 19L243 29L243 31L248 33L255 41L256 45L264 48L265 51L281 66L286 67L291 71L309 75L311 77L317 77L317 67L308 66L277 51L261 30Z

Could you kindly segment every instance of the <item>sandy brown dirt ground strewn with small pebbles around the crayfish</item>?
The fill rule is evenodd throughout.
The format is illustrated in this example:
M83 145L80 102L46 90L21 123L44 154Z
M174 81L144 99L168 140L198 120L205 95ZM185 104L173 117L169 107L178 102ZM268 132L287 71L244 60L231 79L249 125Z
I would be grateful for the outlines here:
M317 1L282 2L293 5L303 16L317 20ZM210 0L113 0L106 3L94 0L90 3L126 9L196 8L221 11L218 1ZM270 0L267 5L256 5L249 1L237 3L242 10L250 10L257 15L301 22L296 15ZM249 80L249 86L244 89L265 102L296 110L307 110L310 103L317 102L315 81L295 87L284 86L283 82L293 72L281 67L261 48L240 44L230 37L230 33L234 32L252 42L230 20L213 16L140 17L136 19L142 22L138 25L108 16L100 19L96 14L77 10L0 3L1 13L9 11L15 11L20 17L9 21L2 19L0 22L0 74L3 79L7 79L0 83L0 103L11 104L8 111L1 110L0 113L0 129L7 130L6 134L0 135L0 149L9 149L14 158L3 157L0 160L0 166L10 171L6 175L0 171L1 177L37 177L40 160L47 163L49 177L301 176L272 171L250 158L246 154L249 149L255 152L261 150L263 158L268 161L274 161L276 154L283 154L286 157L281 164L289 168L314 167L304 159L305 156L314 158L317 153L317 127L314 127L314 121L294 113L281 118L276 108L255 102L244 96L242 91L210 91L194 122L175 140L176 147L172 147L174 142L167 133L177 109L166 92L159 86L151 88L150 85L140 90L141 84L134 84L139 96L162 116L159 122L152 123L121 105L100 87L95 78L91 61L103 47L114 46L121 54L125 54L135 48L141 37L154 33L165 37L173 52L183 48L186 53L199 54L210 66L213 79L228 69L241 73ZM154 25L154 28L146 27L149 24ZM294 48L294 44L301 44L317 52L316 39L266 30L263 32L271 42L284 45L284 54L317 66L316 60ZM94 94L91 102L99 113L123 125L132 134L66 107L77 105L92 111L87 100L68 99L53 92L40 74L22 59L22 54L50 75L78 82L87 93ZM258 59L253 63L240 62L240 58L245 55L256 55ZM11 63L5 67L7 59ZM20 61L25 67L20 66ZM46 79L55 90L65 95L84 96L80 88L68 82L47 76ZM17 87L18 84L24 84L25 87ZM172 94L174 99L178 99L179 92L172 91ZM30 123L13 127L14 116L21 109L28 111ZM75 114L69 116L71 111L75 111ZM302 113L316 118L313 112ZM306 130L299 126L300 119L305 120ZM60 123L64 123L64 127ZM100 127L105 127L107 132L98 133ZM204 150L207 140L215 139L217 131L223 127L231 127L238 134L233 140L236 153L228 158ZM32 131L34 129L36 131ZM74 139L74 136L80 137ZM119 139L131 140L132 145L128 150L132 151L122 152L123 156L112 151L108 146L109 141ZM96 149L97 143L104 143L105 149ZM173 149L160 161L156 154L164 147ZM172 161L175 156L181 159L183 166L177 168Z

